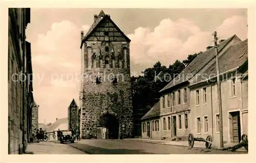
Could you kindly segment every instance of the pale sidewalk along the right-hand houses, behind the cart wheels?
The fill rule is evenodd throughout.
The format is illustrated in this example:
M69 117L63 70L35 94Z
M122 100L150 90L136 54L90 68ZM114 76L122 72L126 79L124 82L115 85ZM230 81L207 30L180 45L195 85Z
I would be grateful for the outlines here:
M150 139L150 138L125 138L124 140L126 140L126 141L138 141L138 142L146 142L146 143L154 143L154 144L164 144L164 145L189 147L187 141L176 142L176 141L170 141L170 140ZM234 144L234 143L232 143L232 144L231 143L230 144L224 144L224 148L230 147L230 146L233 146L233 145L236 145L236 144ZM206 148L204 142L196 142L196 141L195 141L193 147L196 147L196 148ZM222 148L217 146L217 145L215 145L213 143L213 144L211 144L211 149L221 150ZM238 149L237 151L242 151L242 152L246 152L247 153L247 151L246 151L246 149L244 147Z

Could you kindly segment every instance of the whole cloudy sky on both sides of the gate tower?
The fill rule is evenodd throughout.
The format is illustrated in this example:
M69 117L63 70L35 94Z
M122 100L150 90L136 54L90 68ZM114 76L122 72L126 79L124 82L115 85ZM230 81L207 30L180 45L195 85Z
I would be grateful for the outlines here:
M93 23L101 9L31 8L26 29L31 42L33 95L39 123L68 117L68 106L79 105L80 32ZM247 38L246 9L102 9L131 39L131 75L139 75L157 61L168 66L188 54L236 34Z

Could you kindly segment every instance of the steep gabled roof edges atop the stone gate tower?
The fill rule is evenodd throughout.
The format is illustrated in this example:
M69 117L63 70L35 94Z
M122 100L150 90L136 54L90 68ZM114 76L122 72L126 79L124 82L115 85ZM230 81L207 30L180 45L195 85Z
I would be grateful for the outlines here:
M101 16L103 16L103 18L101 18ZM96 20L94 20L92 26L90 27L90 29L88 30L87 34L84 35L82 42L81 42L81 46L82 47L82 43L88 38L88 36L93 32L93 30L99 25L99 23L101 21L103 21L106 17L109 17L109 15L106 15L103 10L100 11L98 18ZM112 19L109 17L109 20L112 22L112 24L123 34L123 36L126 38L127 41L131 41L115 24L115 22L112 21Z

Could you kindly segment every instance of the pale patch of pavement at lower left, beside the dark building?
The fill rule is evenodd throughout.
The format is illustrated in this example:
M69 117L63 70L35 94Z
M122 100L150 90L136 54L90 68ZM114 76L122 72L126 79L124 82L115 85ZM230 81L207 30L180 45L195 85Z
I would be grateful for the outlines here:
M34 154L87 154L66 144L53 142L31 143L26 151L33 152Z

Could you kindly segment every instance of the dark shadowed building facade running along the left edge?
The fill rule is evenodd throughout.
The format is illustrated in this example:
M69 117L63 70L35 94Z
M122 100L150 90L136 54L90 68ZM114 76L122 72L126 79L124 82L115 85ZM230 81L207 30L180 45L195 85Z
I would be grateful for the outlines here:
M22 154L32 134L31 45L26 41L29 8L9 8L8 153ZM29 80L30 79L30 80Z

